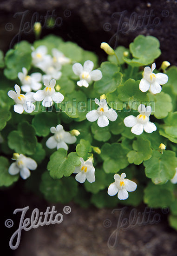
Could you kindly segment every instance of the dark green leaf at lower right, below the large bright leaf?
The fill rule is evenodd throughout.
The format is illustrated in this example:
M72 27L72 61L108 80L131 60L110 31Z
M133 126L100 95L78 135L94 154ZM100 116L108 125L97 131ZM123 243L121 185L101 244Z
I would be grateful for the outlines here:
M155 185L150 182L144 189L144 202L152 208L167 208L174 201L173 184Z

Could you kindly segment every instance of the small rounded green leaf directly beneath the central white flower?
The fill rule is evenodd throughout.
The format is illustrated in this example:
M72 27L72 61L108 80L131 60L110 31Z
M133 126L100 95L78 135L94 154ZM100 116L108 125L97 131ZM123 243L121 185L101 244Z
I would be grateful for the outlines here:
M111 122L111 121L110 121ZM109 127L99 127L97 122L94 122L91 126L92 134L97 141L108 141L111 138Z

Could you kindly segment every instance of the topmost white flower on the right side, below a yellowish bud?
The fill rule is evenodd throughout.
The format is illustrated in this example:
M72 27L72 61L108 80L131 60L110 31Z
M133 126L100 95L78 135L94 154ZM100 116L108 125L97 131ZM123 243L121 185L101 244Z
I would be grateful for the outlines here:
M153 71L156 68L156 64L153 63L151 68L144 67L143 78L139 83L139 89L142 92L147 92L148 90L152 94L158 94L161 92L161 84L165 84L168 81L168 76L163 73L154 74Z

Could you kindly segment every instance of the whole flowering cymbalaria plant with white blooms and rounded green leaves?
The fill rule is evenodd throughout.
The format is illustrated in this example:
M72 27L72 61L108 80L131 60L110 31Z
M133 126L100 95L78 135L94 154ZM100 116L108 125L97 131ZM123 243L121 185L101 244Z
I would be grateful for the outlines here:
M48 35L0 52L0 186L22 178L53 203L168 207L177 229L177 67L159 47L103 42L99 63Z

